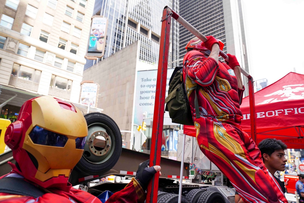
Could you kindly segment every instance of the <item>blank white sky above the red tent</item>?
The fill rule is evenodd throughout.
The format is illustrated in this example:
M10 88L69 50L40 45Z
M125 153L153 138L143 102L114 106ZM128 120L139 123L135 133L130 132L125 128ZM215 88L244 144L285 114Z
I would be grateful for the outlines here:
M304 0L243 0L243 10L254 80L304 74Z

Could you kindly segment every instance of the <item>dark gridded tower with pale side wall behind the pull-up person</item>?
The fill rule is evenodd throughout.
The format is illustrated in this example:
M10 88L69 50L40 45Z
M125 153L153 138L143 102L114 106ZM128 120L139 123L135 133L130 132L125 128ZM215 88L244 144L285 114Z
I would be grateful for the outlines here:
M205 36L220 39L225 44L223 51L236 55L241 67L250 72L241 0L180 0L179 5L180 16ZM179 58L182 59L186 44L195 36L183 26L179 28ZM243 81L246 87L247 79ZM248 88L245 94L248 95Z

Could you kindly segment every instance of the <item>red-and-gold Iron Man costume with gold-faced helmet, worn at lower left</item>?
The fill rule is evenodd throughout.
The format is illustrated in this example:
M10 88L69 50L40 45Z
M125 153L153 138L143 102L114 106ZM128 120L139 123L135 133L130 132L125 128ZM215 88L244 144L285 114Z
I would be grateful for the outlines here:
M16 122L5 133L5 143L13 152L16 166L0 177L16 178L42 192L38 197L18 192L0 192L1 203L100 203L88 192L76 190L68 183L71 170L82 156L88 126L84 116L71 103L51 96L26 101ZM0 180L0 182L1 182ZM17 194L16 194L17 193ZM143 202L145 193L133 178L106 202Z

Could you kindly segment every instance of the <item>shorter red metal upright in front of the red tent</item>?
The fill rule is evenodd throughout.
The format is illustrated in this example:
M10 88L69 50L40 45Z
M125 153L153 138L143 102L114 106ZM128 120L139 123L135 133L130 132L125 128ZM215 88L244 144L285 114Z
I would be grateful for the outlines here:
M254 102L254 83L252 77L248 78L248 91L249 91L249 106L250 106L251 138L257 145L257 124L256 124L255 102Z

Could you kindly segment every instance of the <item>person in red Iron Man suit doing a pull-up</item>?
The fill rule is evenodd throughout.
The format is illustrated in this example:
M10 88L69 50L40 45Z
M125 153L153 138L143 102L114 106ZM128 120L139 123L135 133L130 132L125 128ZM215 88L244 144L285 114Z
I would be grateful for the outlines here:
M219 61L219 42L212 36L206 42L195 37L186 49L185 89L199 85L187 96L201 151L231 181L244 202L287 203L264 166L260 150L241 129L244 86L237 58L227 54L229 63ZM211 51L209 56L206 50ZM197 91L197 109L193 91Z

